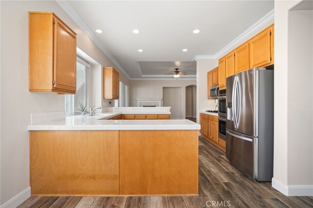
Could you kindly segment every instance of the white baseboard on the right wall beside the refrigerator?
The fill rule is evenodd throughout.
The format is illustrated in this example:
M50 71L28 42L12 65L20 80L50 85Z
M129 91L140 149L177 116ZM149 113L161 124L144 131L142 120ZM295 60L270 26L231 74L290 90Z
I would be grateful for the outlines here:
M286 186L272 178L272 187L286 196L313 196L313 186Z

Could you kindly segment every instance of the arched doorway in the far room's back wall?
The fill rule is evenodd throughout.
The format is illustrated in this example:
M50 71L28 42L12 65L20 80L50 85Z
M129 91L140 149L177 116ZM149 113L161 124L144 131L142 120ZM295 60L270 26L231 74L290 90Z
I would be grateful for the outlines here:
M186 86L186 101L185 101L186 119L196 122L197 120L197 86L192 84Z

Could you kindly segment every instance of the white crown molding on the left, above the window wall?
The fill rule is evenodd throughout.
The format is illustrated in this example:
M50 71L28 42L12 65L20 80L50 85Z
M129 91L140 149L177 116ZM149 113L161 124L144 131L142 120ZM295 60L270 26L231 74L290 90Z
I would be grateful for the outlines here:
M128 79L131 77L123 69L123 67L114 59L108 49L100 42L100 40L94 35L92 30L86 24L86 22L79 16L75 9L68 3L67 0L56 0L61 8L67 13L67 15L75 21L75 23L89 36L89 38L103 51L105 55L125 74Z

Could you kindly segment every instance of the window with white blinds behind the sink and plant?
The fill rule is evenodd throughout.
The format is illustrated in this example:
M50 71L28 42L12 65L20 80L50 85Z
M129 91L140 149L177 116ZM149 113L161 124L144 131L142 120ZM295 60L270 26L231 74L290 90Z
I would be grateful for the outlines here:
M65 95L65 112L66 115L81 113L80 103L84 106L87 104L89 111L89 68L90 65L77 57L76 61L76 94Z

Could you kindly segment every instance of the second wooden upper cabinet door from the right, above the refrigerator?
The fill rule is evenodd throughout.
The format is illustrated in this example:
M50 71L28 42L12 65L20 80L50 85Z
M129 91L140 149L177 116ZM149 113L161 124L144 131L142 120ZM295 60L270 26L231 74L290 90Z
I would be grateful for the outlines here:
M246 71L249 66L249 43L246 42L235 49L235 74Z

